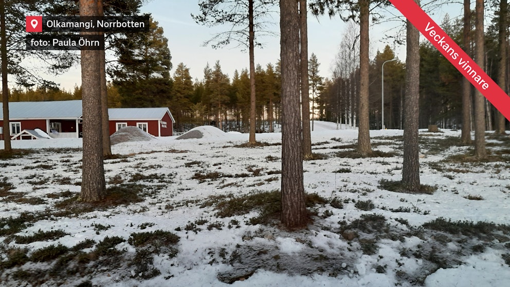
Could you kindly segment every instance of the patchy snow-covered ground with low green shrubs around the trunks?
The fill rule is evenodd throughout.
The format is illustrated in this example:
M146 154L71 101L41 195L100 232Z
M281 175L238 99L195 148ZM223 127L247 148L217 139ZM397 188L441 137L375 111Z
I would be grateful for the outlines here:
M306 229L288 231L277 223L250 224L258 210L218 217L216 202L211 203L214 198L221 201L221 195L228 200L279 190L281 134L257 134L257 140L267 145L243 148L237 146L247 142L247 134L211 127L201 132L198 139L168 137L112 146L112 152L121 156L105 160L107 186L142 185L145 197L76 213L59 213L56 204L80 192L81 139L12 141L14 149L37 152L0 159L0 284L227 286L230 281L233 286L510 286L510 229L503 226L510 224L508 157L503 162L444 162L469 147L438 151L422 142L421 183L438 189L433 194L391 192L379 188L379 181L402 178L402 142L397 138L401 130L371 131L373 149L395 152L394 156L338 157L337 152L353 151L342 146L355 143L357 131L316 121L313 149L327 158L304 162L304 184L307 193L328 202L310 208L316 215ZM460 131L420 134L426 142L459 137ZM510 149L508 141L487 142L493 154ZM213 172L222 176L197 176ZM342 208L333 204L335 198ZM359 203L373 206L362 208ZM12 226L7 220L21 214L48 216L9 234L6 230ZM424 225L438 218L492 222L500 228L485 234L472 230L456 234ZM354 239L342 236L346 226L354 231ZM19 243L19 238L51 230L64 234ZM130 263L140 248L129 239L136 232L156 230L179 237L173 246L176 254L168 248L152 250L148 265L157 272L142 279L143 272ZM125 240L115 246L121 255L112 255L119 262L105 263L92 255L82 262L78 253L69 251L68 261L63 257L25 260L6 267L16 248L26 248L32 258L41 248L58 244L71 248L89 239L94 244L80 252L92 254L100 242L112 237ZM79 268L71 270L73 264ZM67 268L67 275L59 275L55 271L59 268L59 272Z

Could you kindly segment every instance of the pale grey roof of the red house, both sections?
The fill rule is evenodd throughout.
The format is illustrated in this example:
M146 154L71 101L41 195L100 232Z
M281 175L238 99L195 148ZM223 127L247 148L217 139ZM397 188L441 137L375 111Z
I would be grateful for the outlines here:
M165 113L174 118L168 107L133 107L108 109L111 120L160 120ZM22 119L79 119L82 116L82 101L10 102L9 118ZM4 118L0 102L0 119Z

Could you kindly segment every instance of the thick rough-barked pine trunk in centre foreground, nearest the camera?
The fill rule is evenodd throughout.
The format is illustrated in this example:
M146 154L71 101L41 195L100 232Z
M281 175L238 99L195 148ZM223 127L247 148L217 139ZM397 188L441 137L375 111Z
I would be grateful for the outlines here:
M282 214L287 228L304 227L307 214L303 184L299 97L299 14L296 0L280 0L282 74Z

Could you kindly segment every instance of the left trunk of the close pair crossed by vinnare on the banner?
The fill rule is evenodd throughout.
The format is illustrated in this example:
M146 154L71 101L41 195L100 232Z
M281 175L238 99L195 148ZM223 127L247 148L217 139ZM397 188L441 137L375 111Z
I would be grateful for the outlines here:
M464 28L462 30L462 41L464 51L469 56L471 47L471 2L464 0ZM462 79L462 130L461 141L465 145L471 144L471 83L463 77Z

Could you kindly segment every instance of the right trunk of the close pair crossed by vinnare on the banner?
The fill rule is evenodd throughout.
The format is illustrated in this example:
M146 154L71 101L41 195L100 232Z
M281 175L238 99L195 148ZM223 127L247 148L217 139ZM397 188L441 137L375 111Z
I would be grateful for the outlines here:
M476 62L484 66L484 35L483 35L483 0L476 0L475 47ZM475 93L475 157L487 157L485 150L485 97L478 90Z

